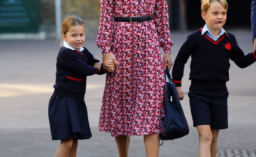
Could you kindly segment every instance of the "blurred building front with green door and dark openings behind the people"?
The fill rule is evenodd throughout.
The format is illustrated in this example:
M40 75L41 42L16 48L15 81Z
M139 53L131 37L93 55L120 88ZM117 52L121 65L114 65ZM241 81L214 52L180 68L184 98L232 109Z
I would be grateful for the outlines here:
M251 0L227 0L224 28L250 29ZM171 31L202 27L200 0L168 0ZM100 0L0 0L0 39L55 39L61 21L77 15L87 25L87 37L96 38ZM11 35L11 36L10 36Z

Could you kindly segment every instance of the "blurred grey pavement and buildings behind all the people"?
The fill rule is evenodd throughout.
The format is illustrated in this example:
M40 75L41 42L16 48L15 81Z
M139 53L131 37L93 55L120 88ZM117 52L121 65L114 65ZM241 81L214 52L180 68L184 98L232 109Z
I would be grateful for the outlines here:
M252 52L251 0L227 1L224 29L236 35L244 53ZM203 27L204 21L200 0L168 0L168 5L174 61L186 37ZM0 0L0 157L53 157L58 148L59 141L50 136L48 102L55 83L61 22L70 15L84 20L85 47L101 60L96 45L100 0ZM229 129L219 135L218 157L256 157L256 63L243 70L230 63ZM190 133L166 141L160 157L198 156L198 133L187 96L189 65L184 73L182 106ZM85 101L93 137L79 141L78 157L117 157L114 138L98 131L104 86L105 75L87 78ZM145 157L142 136L131 137L130 146L130 157Z

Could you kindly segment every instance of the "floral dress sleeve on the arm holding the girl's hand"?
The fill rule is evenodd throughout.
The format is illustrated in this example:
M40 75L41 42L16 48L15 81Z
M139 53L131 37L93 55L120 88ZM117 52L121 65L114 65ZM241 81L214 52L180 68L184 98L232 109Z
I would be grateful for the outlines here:
M101 14L99 31L96 39L96 44L102 49L102 54L111 53L111 46L113 44L113 1L101 0Z

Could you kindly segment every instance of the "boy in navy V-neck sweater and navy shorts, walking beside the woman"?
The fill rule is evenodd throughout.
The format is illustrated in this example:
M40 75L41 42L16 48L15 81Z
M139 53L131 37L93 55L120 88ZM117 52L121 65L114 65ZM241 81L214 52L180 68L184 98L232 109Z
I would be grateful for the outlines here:
M226 0L201 0L206 25L190 34L180 48L172 70L180 100L181 79L191 56L189 103L193 126L198 129L199 157L216 157L219 129L227 129L226 82L232 60L244 68L256 61L256 53L244 55L233 34L222 28L227 19Z

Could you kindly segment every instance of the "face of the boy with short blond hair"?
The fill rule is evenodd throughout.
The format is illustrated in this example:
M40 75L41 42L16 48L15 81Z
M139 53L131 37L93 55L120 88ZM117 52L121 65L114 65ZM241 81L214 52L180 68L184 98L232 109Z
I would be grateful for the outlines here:
M213 2L207 12L202 11L201 15L211 33L219 33L227 20L227 9L221 3Z

